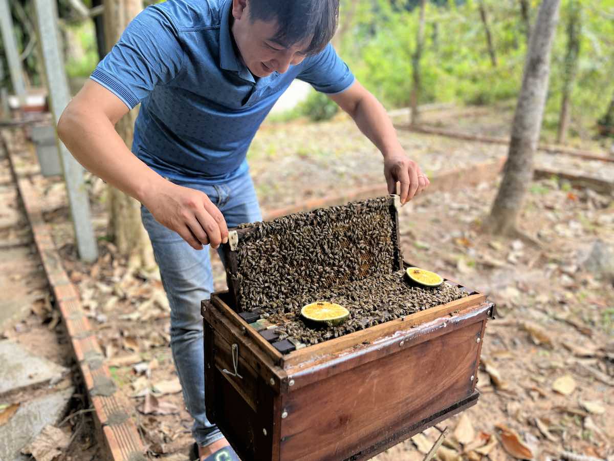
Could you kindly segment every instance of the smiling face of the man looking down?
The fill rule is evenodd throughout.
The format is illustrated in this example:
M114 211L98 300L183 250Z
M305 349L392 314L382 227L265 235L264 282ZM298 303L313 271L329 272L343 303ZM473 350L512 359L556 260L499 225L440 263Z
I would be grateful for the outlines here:
M243 63L257 77L267 77L274 71L284 73L289 66L297 65L305 59L305 49L311 37L305 41L287 47L273 37L278 31L277 22L252 21L249 17L249 2L233 2L234 23L232 33L241 53Z

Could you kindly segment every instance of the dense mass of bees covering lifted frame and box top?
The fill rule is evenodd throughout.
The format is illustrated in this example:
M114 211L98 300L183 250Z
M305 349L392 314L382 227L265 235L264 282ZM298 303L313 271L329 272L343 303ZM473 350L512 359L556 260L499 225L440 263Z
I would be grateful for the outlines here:
M378 197L240 226L251 232L237 249L239 307L262 309L279 339L317 344L467 296L406 282L394 213L390 197ZM309 328L300 310L314 301L343 305L348 320Z

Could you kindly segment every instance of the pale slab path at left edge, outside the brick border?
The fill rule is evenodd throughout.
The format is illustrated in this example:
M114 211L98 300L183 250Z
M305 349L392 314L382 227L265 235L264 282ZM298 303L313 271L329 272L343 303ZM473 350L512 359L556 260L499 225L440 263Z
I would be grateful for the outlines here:
M0 143L0 339L11 338L0 341L0 461L25 461L31 457L21 449L45 425L60 422L74 387L66 380L55 387L70 377L69 369L42 357L47 348L37 346L39 355L28 338L20 337L22 329L31 337L39 328L55 339L31 317L34 303L49 297L49 285L10 171Z

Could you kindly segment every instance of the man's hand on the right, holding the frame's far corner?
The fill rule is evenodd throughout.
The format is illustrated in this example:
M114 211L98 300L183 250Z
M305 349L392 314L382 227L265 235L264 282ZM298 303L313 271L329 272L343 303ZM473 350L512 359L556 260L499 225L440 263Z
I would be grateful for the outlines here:
M384 176L388 184L389 194L397 193L397 183L400 183L401 204L413 199L429 186L429 178L410 160L404 152L384 156Z

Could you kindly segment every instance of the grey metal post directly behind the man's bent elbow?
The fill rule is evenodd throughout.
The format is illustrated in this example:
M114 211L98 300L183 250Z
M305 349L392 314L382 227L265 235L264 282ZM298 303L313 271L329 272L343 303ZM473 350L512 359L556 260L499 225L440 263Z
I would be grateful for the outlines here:
M47 76L50 109L57 127L58 120L70 101L68 81L64 72L64 60L58 40L58 12L55 1L34 0L34 6L36 6L39 44L42 50L45 76ZM90 203L83 179L84 170L60 140L58 140L58 148L64 170L64 181L66 181L79 256L83 261L95 261L98 258L98 248L91 225Z

